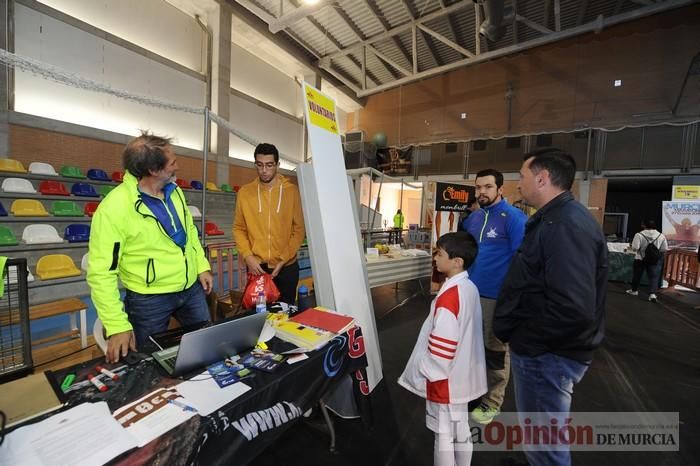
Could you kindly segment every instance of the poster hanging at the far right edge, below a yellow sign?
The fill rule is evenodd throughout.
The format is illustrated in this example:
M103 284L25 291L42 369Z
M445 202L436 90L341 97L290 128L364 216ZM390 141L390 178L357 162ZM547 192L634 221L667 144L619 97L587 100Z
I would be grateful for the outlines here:
M661 233L669 249L697 249L700 245L700 202L664 201Z

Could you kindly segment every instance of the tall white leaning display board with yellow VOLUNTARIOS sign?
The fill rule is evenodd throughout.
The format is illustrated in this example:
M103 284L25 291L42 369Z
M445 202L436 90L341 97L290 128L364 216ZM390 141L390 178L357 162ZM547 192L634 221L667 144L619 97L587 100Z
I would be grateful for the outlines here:
M353 316L362 328L373 390L382 379L381 353L336 105L313 86L302 88L313 163L299 170L299 181L317 302Z

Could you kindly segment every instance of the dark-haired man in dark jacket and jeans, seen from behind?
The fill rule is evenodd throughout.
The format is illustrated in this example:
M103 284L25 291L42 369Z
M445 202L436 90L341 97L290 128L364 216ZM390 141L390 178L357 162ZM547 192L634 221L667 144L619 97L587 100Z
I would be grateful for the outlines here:
M518 412L542 413L528 417L547 427L566 424L573 387L603 339L607 245L570 192L575 174L574 159L558 149L525 156L518 190L538 210L526 224L493 322L496 336L510 345ZM561 445L550 449L547 439L535 440L524 445L531 465L570 464Z

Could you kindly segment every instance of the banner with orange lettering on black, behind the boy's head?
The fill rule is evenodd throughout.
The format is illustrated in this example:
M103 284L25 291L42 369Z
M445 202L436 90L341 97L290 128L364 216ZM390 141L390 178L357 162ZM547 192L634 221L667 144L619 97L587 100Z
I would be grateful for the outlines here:
M473 186L456 183L435 183L435 210L433 212L433 225L431 247L435 253L435 245L438 238L445 233L457 231L461 214L469 209L469 205L475 198ZM445 276L438 272L433 260L433 274L430 280L431 291L440 289Z

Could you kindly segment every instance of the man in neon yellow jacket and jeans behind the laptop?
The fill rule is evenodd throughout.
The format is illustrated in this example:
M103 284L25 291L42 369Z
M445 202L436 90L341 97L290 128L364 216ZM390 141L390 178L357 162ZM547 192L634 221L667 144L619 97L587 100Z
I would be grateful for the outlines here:
M122 154L124 180L92 218L87 282L118 362L149 335L210 320L211 267L185 195L175 184L170 139L142 132ZM124 284L124 303L118 281Z

